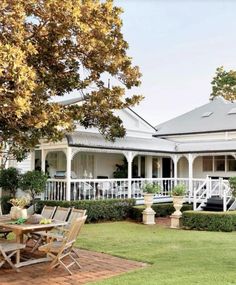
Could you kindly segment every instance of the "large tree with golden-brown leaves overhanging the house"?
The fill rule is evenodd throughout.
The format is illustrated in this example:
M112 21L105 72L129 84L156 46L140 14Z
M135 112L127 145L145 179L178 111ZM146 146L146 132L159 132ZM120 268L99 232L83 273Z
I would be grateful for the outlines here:
M113 111L141 96L124 96L140 72L127 56L121 12L112 0L0 1L0 132L18 159L41 138L61 139L74 121L124 136ZM111 88L108 76L117 80ZM83 104L52 102L71 91Z

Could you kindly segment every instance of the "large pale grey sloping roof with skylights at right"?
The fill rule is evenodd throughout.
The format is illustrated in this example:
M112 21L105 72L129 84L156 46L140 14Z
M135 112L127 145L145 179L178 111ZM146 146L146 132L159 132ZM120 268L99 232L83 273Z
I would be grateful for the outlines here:
M236 131L236 102L216 97L179 117L156 126L155 136Z

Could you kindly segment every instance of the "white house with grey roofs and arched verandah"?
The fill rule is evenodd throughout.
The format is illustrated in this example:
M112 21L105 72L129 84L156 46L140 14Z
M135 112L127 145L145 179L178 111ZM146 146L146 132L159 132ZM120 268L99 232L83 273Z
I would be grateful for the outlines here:
M59 143L42 142L17 167L26 171L40 163L55 173L45 199L140 198L147 181L161 185L162 197L169 197L178 182L186 184L189 199L200 197L203 189L228 191L222 179L236 176L236 103L219 97L156 127L131 109L117 115L126 127L125 138L113 143L96 129L77 126ZM116 165L124 158L127 177L115 179Z

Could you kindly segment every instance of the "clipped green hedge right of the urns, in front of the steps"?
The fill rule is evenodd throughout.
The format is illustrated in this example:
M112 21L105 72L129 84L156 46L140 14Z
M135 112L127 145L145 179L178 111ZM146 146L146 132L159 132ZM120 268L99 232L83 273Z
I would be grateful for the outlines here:
M236 211L183 213L183 227L186 229L232 232L236 230Z

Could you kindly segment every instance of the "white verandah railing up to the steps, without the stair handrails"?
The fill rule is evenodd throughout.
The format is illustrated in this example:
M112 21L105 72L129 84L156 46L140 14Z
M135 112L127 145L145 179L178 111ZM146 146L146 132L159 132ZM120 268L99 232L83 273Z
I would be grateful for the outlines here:
M131 187L126 179L71 179L71 200L97 200L97 199L143 199L143 185L155 183L160 185L158 198L170 198L176 184L186 185L186 201L193 202L194 191L205 182L204 179L188 178L133 178ZM192 187L190 187L192 183ZM189 190L191 189L191 190ZM44 200L66 200L67 182L65 179L48 179Z

